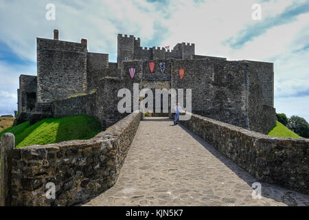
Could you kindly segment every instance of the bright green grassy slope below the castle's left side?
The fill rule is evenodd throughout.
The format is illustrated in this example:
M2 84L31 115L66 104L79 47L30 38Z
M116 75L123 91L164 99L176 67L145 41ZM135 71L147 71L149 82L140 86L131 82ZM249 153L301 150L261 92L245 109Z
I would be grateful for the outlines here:
M23 122L0 132L13 133L16 147L33 144L52 144L66 140L87 140L101 131L101 124L93 117L76 115L67 118L45 118L30 126Z

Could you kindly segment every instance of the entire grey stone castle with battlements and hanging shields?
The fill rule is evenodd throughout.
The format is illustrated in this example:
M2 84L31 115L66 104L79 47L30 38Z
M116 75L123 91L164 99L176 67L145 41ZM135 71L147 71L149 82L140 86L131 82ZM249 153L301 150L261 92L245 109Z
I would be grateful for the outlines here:
M54 30L52 40L36 39L37 76L19 78L15 124L87 114L106 129L128 115L117 111L122 99L117 91L133 91L138 83L139 89L192 89L192 113L198 115L260 133L275 126L273 63L196 55L193 43L178 43L173 50L143 48L139 38L122 34L117 63L111 63L108 54L88 52L86 39L59 41L58 34ZM149 62L155 63L152 73ZM159 63L165 63L163 73ZM134 78L130 68L136 69ZM179 69L185 69L183 79Z

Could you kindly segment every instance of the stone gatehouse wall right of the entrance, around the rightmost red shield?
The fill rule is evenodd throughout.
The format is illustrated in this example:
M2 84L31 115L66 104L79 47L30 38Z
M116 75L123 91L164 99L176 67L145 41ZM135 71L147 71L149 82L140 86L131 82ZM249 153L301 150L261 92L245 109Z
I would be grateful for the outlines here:
M244 68L220 59L172 61L171 87L192 89L193 113L249 128ZM183 79L179 69L185 69Z

